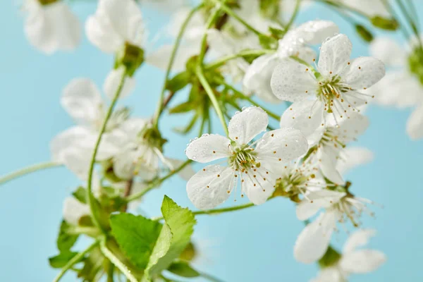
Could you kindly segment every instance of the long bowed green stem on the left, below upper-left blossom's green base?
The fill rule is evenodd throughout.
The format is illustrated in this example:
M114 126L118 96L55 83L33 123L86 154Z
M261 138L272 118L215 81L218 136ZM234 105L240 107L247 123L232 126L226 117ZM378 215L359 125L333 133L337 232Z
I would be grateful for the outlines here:
M126 71L122 75L121 81L119 82L119 85L118 85L118 89L116 90L114 98L111 101L111 104L109 106L109 110L107 111L106 117L104 118L102 129L99 132L99 137L97 137L97 142L95 143L95 146L94 146L94 152L92 153L90 170L88 171L87 199L88 199L88 204L90 205L91 217L92 217L92 221L94 225L97 226L103 233L105 233L105 231L102 224L100 223L99 215L97 214L96 207L94 206L96 204L96 200L94 198L94 195L92 195L92 173L94 171L95 158L99 150L100 142L102 141L103 134L106 131L107 122L109 121L109 118L114 110L114 106L116 105L116 102L118 102L119 95L122 92L123 82L125 81L125 78L126 78Z

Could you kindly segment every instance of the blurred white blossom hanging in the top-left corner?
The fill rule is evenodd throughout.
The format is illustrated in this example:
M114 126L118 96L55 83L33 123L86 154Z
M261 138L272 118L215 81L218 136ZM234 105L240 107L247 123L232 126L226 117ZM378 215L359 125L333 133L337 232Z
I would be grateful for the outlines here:
M26 0L25 35L46 54L70 51L80 42L80 23L62 0Z

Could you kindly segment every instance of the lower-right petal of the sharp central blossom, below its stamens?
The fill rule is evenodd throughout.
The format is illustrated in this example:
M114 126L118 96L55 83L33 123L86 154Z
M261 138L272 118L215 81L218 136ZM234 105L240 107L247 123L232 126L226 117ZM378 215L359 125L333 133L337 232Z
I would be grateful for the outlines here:
M273 194L276 180L266 174L266 168L252 169L243 174L244 182L241 183L243 192L253 204L264 204Z

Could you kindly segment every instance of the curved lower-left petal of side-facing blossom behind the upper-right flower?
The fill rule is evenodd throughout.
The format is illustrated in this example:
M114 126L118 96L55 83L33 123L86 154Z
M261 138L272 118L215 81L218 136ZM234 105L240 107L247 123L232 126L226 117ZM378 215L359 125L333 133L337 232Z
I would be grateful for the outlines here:
M274 95L270 87L271 75L280 60L275 54L266 54L252 61L243 79L245 90L254 93L264 102L280 103L281 100Z

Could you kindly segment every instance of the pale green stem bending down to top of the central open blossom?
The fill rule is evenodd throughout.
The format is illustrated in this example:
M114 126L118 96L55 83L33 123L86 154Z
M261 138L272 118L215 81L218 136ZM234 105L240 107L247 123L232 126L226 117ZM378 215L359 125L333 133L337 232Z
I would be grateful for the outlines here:
M214 24L214 22L218 18L219 13L220 13L220 11L216 10L212 14L212 16L210 16L209 21L207 22L207 30L210 27L212 27L212 25ZM200 80L202 87L204 87L204 90L206 91L207 95L209 96L210 101L212 101L212 104L214 106L214 110L216 111L216 114L221 121L221 124L223 126L223 129L225 130L226 135L228 135L228 127L226 126L226 121L225 121L225 117L223 116L221 106L219 105L219 102L217 101L216 96L214 95L212 87L209 85L209 82L207 82L207 79L204 77L203 61L204 61L204 55L206 54L206 50L207 50L207 32L205 32L204 36L202 37L201 51L200 51L200 55L198 56L197 67L196 67L195 73L197 74L198 80Z

